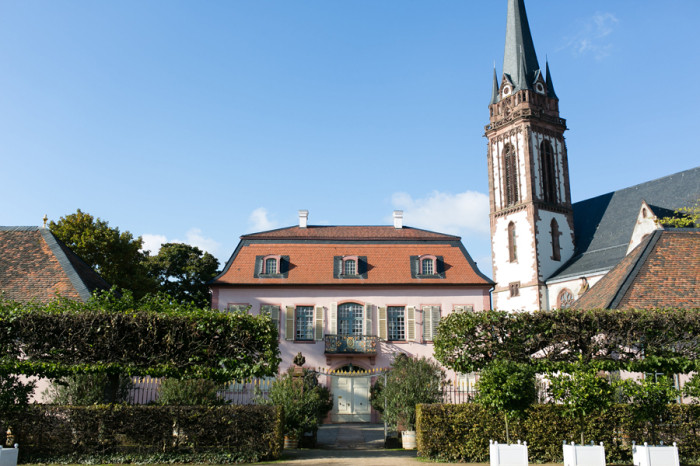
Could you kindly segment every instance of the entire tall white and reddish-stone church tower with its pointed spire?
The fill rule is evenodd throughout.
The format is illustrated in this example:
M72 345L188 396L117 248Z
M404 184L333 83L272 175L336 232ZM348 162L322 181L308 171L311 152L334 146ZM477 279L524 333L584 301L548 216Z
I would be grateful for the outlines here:
M503 76L488 138L491 253L501 310L549 309L545 280L574 252L569 166L549 64L540 68L524 0L508 0Z

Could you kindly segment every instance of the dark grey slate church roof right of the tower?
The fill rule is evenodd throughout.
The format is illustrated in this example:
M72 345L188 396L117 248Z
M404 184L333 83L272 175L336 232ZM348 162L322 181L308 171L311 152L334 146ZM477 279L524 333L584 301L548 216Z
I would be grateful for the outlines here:
M548 282L610 270L625 257L642 201L655 213L691 206L700 198L700 167L573 205L576 252Z

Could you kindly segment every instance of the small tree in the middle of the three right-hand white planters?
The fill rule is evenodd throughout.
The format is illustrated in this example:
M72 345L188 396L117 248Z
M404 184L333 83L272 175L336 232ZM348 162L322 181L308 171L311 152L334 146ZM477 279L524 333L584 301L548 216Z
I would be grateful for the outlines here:
M550 373L549 394L564 405L564 415L576 419L581 429L581 444L585 443L586 418L603 413L615 403L616 384L608 382L582 358L572 364L568 373Z

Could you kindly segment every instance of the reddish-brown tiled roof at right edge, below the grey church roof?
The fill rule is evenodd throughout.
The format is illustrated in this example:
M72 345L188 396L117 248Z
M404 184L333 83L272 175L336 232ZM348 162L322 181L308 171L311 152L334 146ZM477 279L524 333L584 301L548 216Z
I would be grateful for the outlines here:
M572 306L700 309L700 229L657 230Z

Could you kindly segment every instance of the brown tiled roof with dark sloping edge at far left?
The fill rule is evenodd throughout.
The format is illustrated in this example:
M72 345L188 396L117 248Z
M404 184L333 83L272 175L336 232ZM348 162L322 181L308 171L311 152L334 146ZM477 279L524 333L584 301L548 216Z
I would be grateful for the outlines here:
M87 301L93 291L109 289L49 229L0 227L0 293L18 302L46 302L61 295Z

